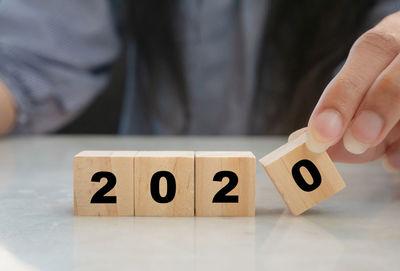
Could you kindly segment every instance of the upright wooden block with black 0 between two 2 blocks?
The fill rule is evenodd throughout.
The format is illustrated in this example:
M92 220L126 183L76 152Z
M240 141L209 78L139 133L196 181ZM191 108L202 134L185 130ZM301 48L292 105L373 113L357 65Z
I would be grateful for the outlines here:
M141 151L135 172L136 216L194 215L194 152Z

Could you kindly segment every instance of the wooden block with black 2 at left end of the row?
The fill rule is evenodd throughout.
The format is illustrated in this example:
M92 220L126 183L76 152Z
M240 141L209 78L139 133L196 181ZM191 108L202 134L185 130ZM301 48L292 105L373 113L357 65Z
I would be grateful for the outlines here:
M83 151L74 157L74 215L133 216L136 151Z

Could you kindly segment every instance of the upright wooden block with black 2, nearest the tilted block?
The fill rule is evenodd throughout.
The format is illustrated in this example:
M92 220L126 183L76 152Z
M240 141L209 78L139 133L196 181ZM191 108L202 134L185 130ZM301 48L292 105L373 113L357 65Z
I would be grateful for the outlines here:
M196 152L196 216L254 216L251 152Z

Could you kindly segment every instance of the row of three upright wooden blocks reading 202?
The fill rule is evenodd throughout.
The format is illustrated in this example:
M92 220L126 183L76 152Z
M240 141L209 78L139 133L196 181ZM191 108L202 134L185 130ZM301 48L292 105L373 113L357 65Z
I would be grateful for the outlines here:
M74 158L74 214L254 216L251 152L84 151Z

